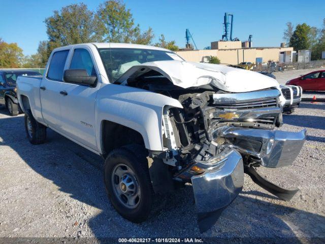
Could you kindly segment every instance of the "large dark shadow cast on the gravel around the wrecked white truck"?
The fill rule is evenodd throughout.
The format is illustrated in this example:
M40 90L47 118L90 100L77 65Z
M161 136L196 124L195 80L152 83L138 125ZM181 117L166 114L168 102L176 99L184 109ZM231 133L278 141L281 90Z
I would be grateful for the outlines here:
M89 215L87 216L88 208L83 206L75 210L87 221L94 236L98 238L197 236L289 237L296 240L297 235L320 237L325 233L324 217L278 205L278 200L273 196L247 191L240 194L224 210L210 230L201 234L196 222L196 209L190 187L169 195L164 210L156 212L146 222L134 224L120 217L109 203L103 183L103 160L99 156L51 130L48 130L48 141L45 144L29 144L25 138L23 116L0 119L0 137L0 146L12 147L31 169L53 181L59 191L100 209L99 214L90 219ZM268 197L272 202L259 200L261 196ZM65 209L66 206L60 204L66 203L57 202L57 207ZM63 212L61 214L65 215ZM69 212L66 218L68 215ZM69 218L73 225L74 216ZM64 233L61 235L64 236Z

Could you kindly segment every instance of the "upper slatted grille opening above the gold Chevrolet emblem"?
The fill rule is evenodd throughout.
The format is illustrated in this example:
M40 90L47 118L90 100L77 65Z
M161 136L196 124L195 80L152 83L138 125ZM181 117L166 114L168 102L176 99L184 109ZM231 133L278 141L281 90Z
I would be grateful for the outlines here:
M233 108L233 109L249 109L249 108L270 108L276 107L277 102L276 98L267 99L267 100L260 100L260 101L252 101L252 102L245 102L245 103L235 103L235 104L215 104L216 108Z

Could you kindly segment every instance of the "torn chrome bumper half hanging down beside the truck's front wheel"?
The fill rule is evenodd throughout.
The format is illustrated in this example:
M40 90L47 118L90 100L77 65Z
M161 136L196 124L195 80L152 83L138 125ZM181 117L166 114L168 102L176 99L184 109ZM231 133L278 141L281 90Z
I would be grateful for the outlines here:
M194 200L201 232L208 230L231 204L244 185L244 166L241 155L234 149L205 173L192 176Z

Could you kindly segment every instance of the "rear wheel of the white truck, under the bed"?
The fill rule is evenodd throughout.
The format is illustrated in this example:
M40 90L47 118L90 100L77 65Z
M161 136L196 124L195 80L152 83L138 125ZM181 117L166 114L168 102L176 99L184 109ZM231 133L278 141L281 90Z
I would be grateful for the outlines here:
M45 142L46 127L35 120L30 110L25 112L25 130L27 139L31 144L41 144Z

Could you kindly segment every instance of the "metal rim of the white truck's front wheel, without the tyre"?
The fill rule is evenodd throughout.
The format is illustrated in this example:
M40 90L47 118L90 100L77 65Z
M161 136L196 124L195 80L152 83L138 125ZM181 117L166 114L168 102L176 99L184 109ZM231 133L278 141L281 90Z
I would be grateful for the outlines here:
M118 164L112 171L113 191L126 208L134 209L140 203L141 189L133 170L125 164Z

